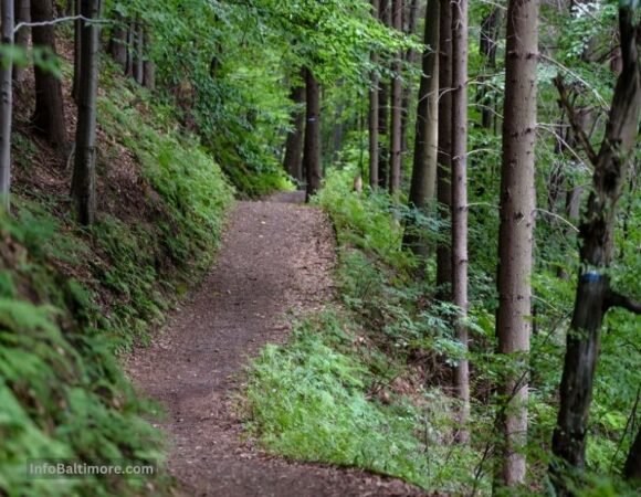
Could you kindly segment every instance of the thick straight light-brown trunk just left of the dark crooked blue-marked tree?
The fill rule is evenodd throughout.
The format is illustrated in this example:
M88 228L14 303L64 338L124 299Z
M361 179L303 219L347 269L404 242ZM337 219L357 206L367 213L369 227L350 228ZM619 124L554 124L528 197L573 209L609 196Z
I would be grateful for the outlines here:
M514 487L525 479L527 443L538 0L509 1L506 53L496 336L498 353L506 355L513 367L500 385L504 405L498 415L502 469L497 483Z

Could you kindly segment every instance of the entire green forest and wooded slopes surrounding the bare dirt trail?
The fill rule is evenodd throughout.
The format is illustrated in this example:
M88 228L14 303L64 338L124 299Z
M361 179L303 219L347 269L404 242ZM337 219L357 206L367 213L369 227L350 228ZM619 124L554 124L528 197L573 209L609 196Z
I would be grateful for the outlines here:
M427 491L635 495L633 0L1 1L0 495L162 461L120 362L235 199L303 189L337 299L246 371L274 454Z

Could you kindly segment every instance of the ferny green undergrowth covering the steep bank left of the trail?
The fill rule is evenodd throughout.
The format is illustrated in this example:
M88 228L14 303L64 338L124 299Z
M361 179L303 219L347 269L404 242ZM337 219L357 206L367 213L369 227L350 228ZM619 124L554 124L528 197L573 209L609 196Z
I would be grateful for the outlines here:
M129 183L102 187L105 205L91 229L46 193L14 197L0 214L0 495L146 495L154 479L95 476L35 479L30 459L160 465L158 415L125 379L116 359L211 263L233 191L196 138L107 71L99 98L98 176L135 157ZM38 146L20 135L17 168L30 168ZM18 191L23 191L19 188ZM122 187L145 192L128 204Z

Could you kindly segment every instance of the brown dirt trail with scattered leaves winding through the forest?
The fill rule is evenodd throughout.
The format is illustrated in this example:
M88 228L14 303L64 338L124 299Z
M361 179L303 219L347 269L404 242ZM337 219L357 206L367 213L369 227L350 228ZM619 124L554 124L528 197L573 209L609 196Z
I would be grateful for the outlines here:
M191 300L128 371L168 411L160 425L174 442L169 470L191 496L406 496L401 482L269 457L242 441L232 398L248 357L282 342L285 311L323 306L332 296L332 229L298 194L241 202L218 263Z

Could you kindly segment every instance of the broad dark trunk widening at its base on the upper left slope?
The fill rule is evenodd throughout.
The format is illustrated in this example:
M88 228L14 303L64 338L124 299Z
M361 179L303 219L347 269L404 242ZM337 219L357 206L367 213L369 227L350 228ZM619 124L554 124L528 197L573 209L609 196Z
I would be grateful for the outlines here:
M48 22L53 20L52 0L31 0L31 20ZM33 44L45 46L55 53L55 33L53 25L40 25L32 29ZM39 66L35 73L35 110L32 124L50 144L63 156L66 154L66 123L62 98L62 85L50 71Z

